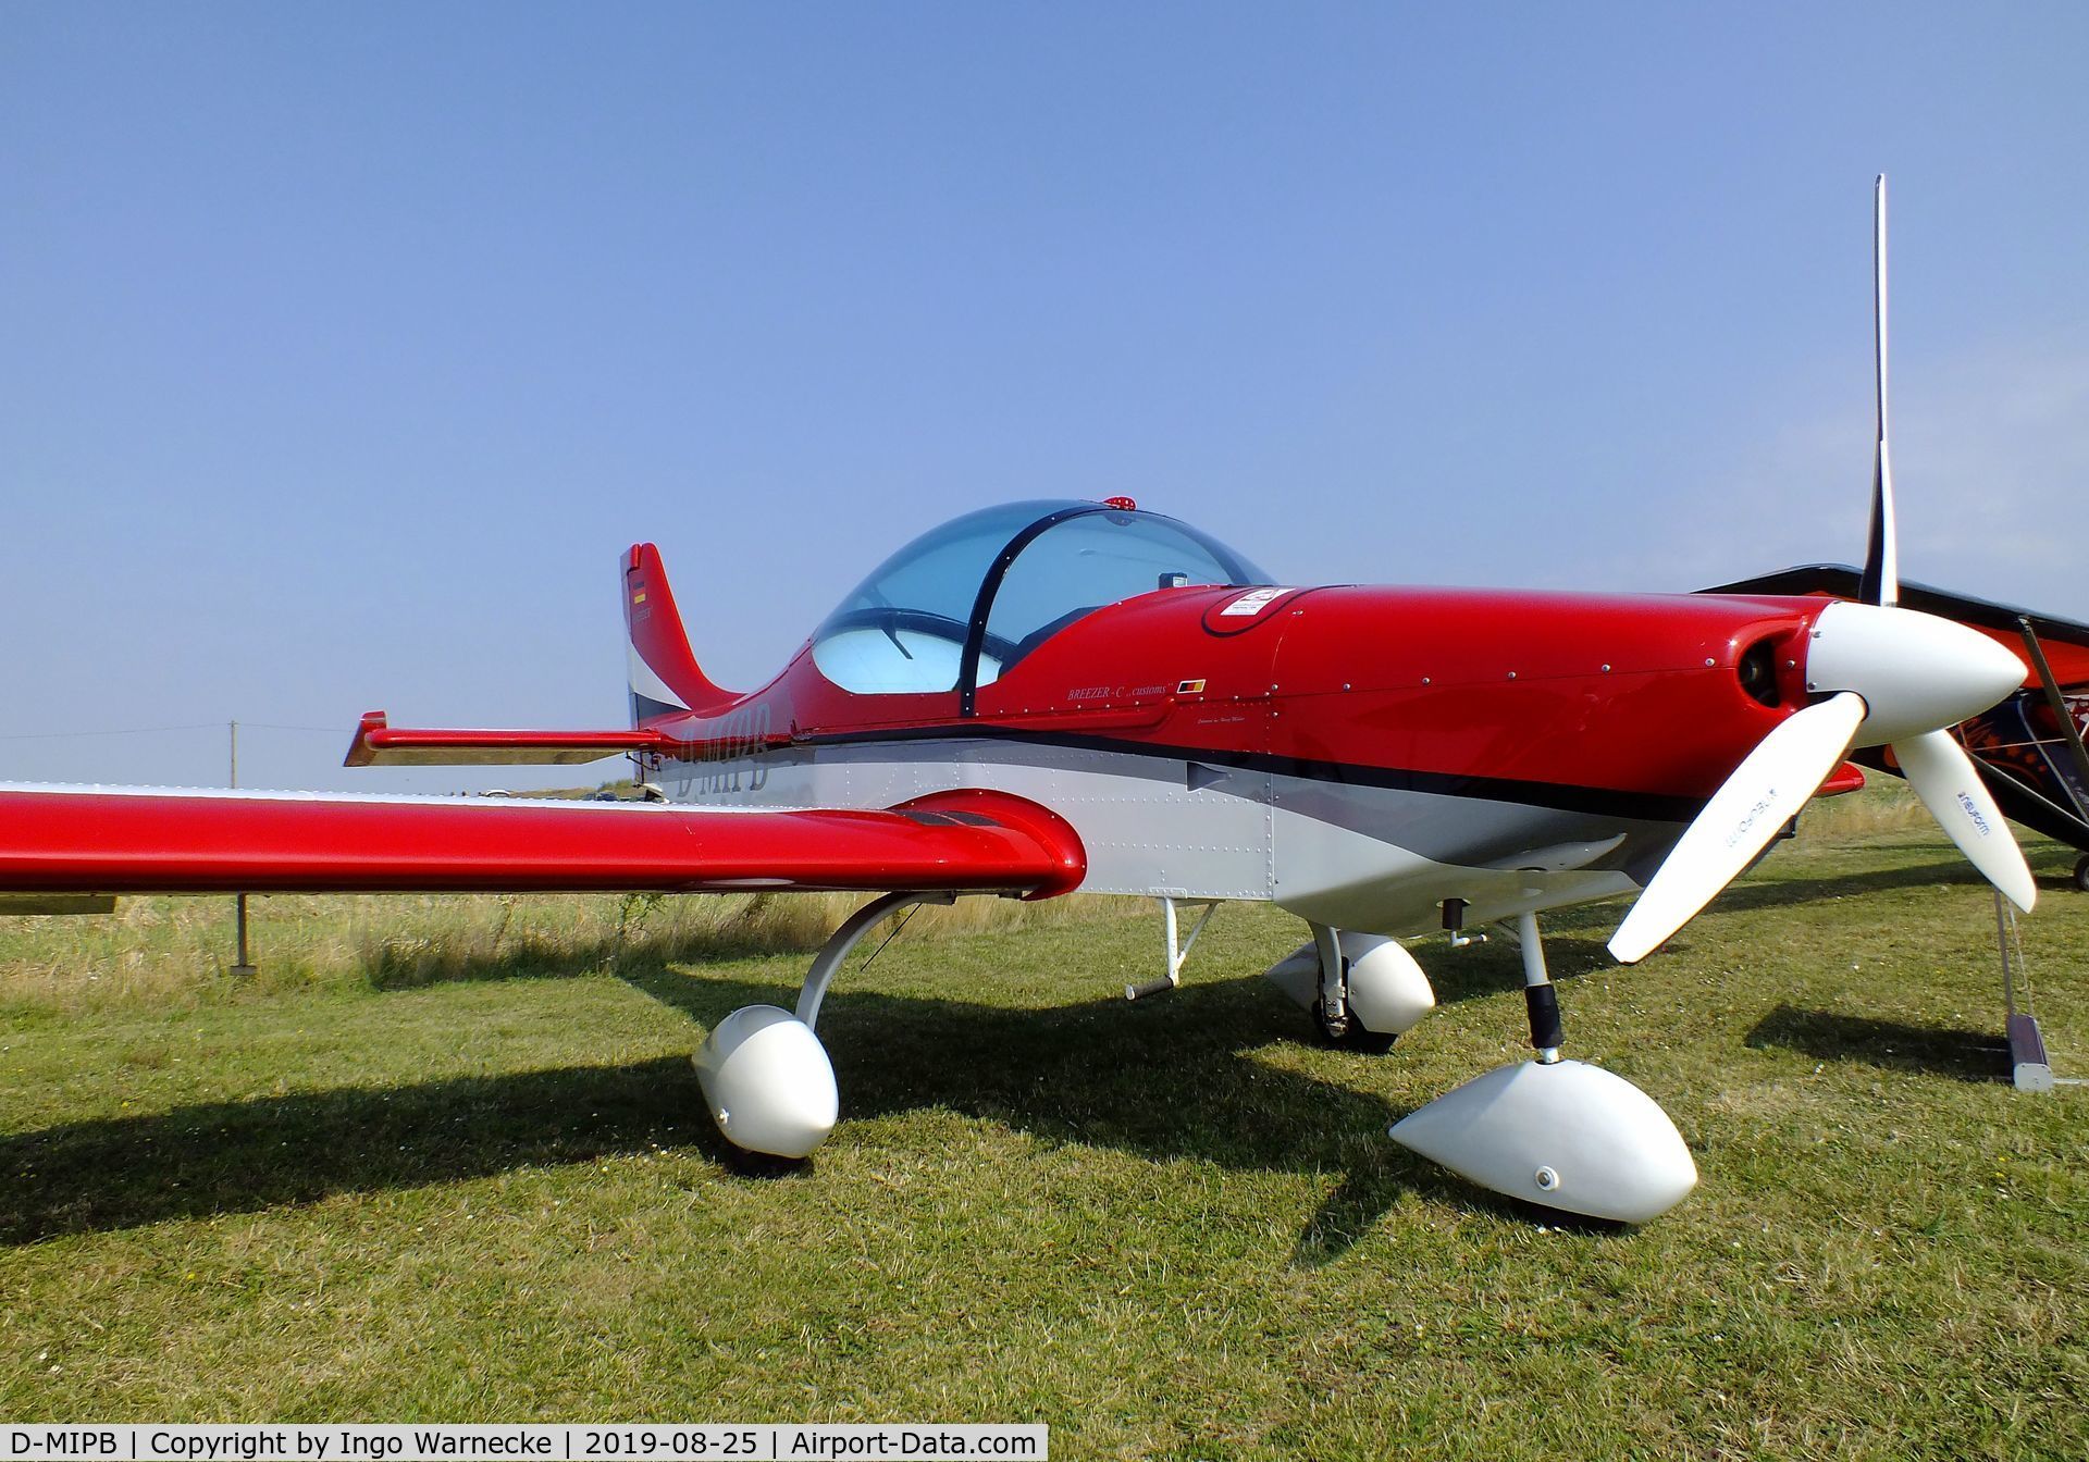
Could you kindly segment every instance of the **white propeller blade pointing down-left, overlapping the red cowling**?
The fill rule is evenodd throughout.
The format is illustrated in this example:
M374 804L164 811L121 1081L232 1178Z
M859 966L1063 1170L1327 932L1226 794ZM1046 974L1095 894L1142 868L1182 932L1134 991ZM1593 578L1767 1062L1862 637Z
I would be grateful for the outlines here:
M1632 965L1717 898L1828 781L1863 721L1851 691L1807 706L1765 735L1684 831L1661 871L1611 936Z

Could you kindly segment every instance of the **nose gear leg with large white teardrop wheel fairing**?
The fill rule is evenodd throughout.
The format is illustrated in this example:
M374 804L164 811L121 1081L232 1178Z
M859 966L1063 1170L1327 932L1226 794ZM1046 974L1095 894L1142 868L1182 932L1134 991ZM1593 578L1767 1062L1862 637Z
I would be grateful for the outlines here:
M1410 1111L1393 1124L1393 1140L1512 1199L1625 1224L1667 1213L1696 1186L1690 1149L1638 1086L1560 1059L1560 1007L1538 915L1521 915L1517 934L1538 1059Z

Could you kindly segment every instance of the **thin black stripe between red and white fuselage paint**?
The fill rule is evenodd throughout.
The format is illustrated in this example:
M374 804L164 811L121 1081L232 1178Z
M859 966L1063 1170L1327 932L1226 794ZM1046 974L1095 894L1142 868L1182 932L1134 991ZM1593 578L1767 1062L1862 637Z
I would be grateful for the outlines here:
M1028 741L1034 746L1061 746L1078 752L1113 752L1120 756L1149 756L1153 760L1235 767L1239 771L1260 771L1272 777L1299 777L1306 781L1324 781L1343 787L1427 792L1443 798L1515 802L1519 806L1542 806L1558 812L1586 812L1592 817L1623 817L1642 823L1688 823L1705 810L1705 798L1677 798L1657 792L1619 792L1615 787L1579 787L1560 781L1517 781L1512 777L1473 777L1462 773L1410 771L1402 767L1364 767L1358 762L1327 762L1306 756L1276 756L1274 752L1220 752L1207 746L1161 746L1155 741L1132 741L1111 735L1030 731L1026 727L996 727L982 723L961 727L900 727L892 731L808 735L796 741L796 746L840 748L890 741Z

